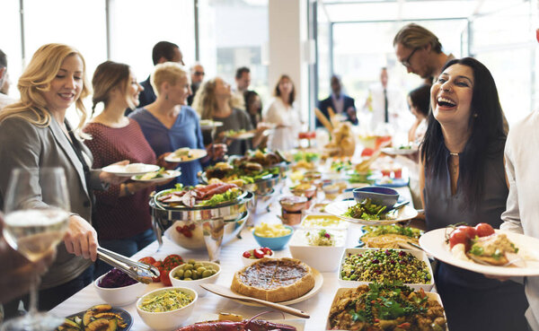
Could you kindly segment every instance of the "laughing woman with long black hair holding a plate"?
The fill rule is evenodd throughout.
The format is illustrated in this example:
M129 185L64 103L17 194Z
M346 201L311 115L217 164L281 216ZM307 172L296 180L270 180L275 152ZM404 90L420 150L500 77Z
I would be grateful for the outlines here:
M430 90L429 126L420 150L420 187L428 230L456 222L499 228L508 198L506 135L496 84L479 61L446 63ZM518 283L439 262L435 272L450 330L526 330Z

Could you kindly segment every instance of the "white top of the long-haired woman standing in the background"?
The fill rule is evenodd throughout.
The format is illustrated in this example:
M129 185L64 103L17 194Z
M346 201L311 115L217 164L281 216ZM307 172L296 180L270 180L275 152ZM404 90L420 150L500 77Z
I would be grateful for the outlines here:
M276 127L268 143L270 149L288 151L296 147L297 134L301 131L301 118L295 105L285 105L280 98L271 101L265 112L264 120L274 123Z

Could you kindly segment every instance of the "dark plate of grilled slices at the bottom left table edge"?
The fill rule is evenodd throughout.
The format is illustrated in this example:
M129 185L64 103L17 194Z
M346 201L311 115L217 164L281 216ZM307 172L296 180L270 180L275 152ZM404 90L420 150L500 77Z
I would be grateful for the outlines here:
M55 331L84 331L97 329L128 331L132 325L133 318L131 318L131 315L129 315L126 310L111 307L108 304L101 304L76 314L69 315L65 318L64 323L57 327Z

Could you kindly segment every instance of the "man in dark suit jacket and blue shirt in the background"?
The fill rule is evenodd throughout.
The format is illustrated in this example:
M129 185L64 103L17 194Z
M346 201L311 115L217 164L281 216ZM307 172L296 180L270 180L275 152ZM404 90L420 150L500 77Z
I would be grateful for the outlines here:
M330 112L328 108L331 107L335 114L344 115L349 122L354 125L358 124L358 117L356 116L356 105L353 98L342 92L342 83L340 83L340 77L336 74L331 76L331 95L322 101L318 102L318 109L322 111L326 118L330 118ZM322 123L316 118L316 127L323 126Z

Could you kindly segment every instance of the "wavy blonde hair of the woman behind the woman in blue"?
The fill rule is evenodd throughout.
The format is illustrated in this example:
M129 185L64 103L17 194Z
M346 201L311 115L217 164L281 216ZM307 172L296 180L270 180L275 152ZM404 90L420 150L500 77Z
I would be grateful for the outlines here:
M195 95L192 107L196 109L201 119L213 119L214 114L218 110L217 97L216 97L216 80L221 79L216 77L202 84ZM245 107L243 100L234 97L234 93L228 100L228 104L232 109L243 109Z

